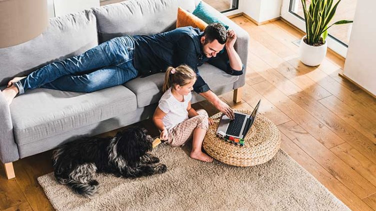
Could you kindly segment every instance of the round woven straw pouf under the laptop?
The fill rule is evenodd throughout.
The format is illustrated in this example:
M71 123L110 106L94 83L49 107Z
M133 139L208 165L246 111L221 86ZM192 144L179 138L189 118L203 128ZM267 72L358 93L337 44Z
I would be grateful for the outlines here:
M251 114L247 110L234 110L244 114ZM214 124L209 126L203 141L203 149L214 159L232 166L255 166L269 161L278 152L280 134L278 128L261 114L249 129L244 139L244 146L233 145L216 136L220 117L219 112L212 117Z

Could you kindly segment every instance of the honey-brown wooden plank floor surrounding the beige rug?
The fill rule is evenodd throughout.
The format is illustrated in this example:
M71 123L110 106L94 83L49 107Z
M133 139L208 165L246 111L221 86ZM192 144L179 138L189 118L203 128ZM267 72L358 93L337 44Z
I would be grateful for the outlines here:
M302 34L281 20L232 20L250 35L246 84L241 103L232 93L220 97L239 109L261 99L259 111L281 131L283 151L351 210L376 211L376 100L338 76L344 62L331 53L318 67L300 63L291 41ZM217 112L207 101L193 107ZM150 120L137 125L158 134ZM52 171L50 157L49 151L14 162L12 180L1 167L1 211L53 210L36 182Z

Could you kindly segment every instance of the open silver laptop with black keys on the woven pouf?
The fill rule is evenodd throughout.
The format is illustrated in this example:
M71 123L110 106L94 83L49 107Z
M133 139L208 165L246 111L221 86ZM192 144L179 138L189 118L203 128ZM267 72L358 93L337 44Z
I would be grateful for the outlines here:
M249 128L252 126L254 119L256 118L260 102L261 100L258 101L256 107L254 107L250 115L234 112L234 120L230 120L227 116L223 115L219 121L216 134L221 138L230 136L233 138L244 139L245 135L249 131Z

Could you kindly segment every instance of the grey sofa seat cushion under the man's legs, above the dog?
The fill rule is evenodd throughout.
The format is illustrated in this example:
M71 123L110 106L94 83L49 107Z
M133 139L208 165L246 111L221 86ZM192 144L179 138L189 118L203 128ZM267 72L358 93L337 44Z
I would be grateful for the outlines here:
M136 96L124 86L92 93L40 88L14 98L10 113L14 139L18 145L23 145L126 114L136 108Z

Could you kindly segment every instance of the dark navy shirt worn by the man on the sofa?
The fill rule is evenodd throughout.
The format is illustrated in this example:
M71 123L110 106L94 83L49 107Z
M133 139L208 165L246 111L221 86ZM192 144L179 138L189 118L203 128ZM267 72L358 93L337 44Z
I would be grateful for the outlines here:
M199 75L198 66L207 62L230 75L241 75L241 71L232 69L229 65L225 49L216 57L207 58L201 48L200 38L203 32L191 26L176 28L174 30L151 36L133 36L134 67L141 76L164 72L168 66L177 67L180 64L189 65L197 74L193 85L196 93L208 91L210 88Z

